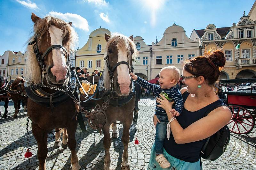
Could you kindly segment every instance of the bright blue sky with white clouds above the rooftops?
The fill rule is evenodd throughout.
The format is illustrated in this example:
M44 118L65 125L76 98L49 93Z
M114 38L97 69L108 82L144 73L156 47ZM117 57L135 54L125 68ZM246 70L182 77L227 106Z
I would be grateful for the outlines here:
M6 50L25 52L33 32L31 12L72 22L82 48L89 34L100 28L126 36L141 36L146 44L160 41L164 30L232 26L247 15L255 0L0 0L0 55Z

